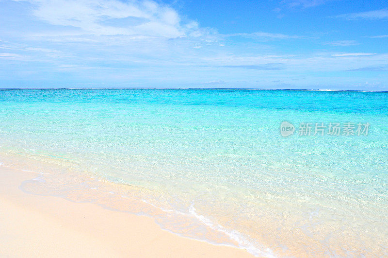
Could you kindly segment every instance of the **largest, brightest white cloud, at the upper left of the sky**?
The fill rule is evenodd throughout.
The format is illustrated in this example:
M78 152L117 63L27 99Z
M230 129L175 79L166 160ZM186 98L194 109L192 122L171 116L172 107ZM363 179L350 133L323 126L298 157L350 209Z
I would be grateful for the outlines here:
M176 38L194 33L198 24L182 24L171 7L152 0L27 0L33 15L52 25L70 26L71 34L147 35ZM68 29L67 29L68 31ZM60 34L66 34L65 31Z

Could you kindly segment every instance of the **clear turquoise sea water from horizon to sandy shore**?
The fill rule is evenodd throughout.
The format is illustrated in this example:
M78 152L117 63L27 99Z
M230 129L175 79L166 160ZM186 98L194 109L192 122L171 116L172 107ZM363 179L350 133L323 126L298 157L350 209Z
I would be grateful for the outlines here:
M280 135L284 120L294 135ZM299 136L303 122L370 128ZM0 90L0 162L17 155L137 187L175 212L158 215L161 227L255 255L387 256L387 125L384 92ZM32 192L48 188L35 181ZM46 181L62 195L69 185Z

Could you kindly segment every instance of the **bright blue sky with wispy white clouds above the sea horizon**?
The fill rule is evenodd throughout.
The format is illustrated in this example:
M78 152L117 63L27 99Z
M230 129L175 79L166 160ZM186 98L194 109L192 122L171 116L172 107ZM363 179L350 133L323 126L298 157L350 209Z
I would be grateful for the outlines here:
M0 0L0 88L388 90L387 0Z

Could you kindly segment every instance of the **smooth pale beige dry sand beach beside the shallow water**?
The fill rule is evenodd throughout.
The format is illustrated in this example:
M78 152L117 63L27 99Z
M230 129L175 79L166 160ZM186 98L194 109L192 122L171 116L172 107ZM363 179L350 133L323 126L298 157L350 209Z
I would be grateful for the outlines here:
M146 216L19 189L34 177L0 167L1 257L252 257L179 237Z

